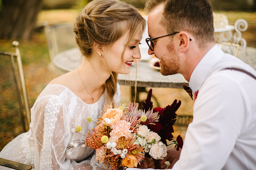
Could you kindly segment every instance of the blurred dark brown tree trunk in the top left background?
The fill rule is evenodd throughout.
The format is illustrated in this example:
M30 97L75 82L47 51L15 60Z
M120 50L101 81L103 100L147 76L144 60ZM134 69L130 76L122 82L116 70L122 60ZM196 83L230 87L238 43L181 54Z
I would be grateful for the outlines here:
M30 39L42 2L43 0L2 0L0 39Z

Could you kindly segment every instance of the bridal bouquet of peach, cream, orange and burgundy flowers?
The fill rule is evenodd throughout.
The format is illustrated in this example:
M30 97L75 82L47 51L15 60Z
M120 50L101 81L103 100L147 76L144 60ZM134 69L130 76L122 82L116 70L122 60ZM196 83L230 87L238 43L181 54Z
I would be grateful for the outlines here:
M124 103L119 107L107 106L97 119L96 127L85 137L85 144L96 149L96 161L108 169L119 167L147 167L152 159L164 159L167 141L172 141L177 150L182 148L180 135L173 139L173 124L181 102L175 100L165 108L153 108L152 89L149 90L142 109L138 103ZM88 122L92 121L87 117ZM178 142L177 142L178 141Z

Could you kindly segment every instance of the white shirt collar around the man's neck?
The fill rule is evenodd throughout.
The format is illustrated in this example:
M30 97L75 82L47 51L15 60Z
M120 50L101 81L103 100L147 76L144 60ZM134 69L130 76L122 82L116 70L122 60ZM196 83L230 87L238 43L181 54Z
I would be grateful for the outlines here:
M219 46L215 45L200 60L189 80L189 87L193 93L201 88L208 72L224 54L225 53L219 48Z

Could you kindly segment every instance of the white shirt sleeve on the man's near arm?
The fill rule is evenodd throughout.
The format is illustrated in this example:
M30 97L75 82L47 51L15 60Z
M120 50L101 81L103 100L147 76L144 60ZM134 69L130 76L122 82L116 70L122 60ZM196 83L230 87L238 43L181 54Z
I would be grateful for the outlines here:
M180 159L173 170L220 170L243 131L246 103L234 81L211 76L199 90ZM137 168L127 168L135 170Z

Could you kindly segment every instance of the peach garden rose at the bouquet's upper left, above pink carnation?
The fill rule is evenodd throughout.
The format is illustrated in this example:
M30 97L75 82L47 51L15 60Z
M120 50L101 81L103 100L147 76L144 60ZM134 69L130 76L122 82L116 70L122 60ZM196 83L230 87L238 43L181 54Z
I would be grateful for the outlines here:
M105 125L108 125L108 123L106 123L104 121L104 119L108 120L110 119L110 125L112 124L115 124L118 120L121 119L123 115L123 110L121 109L117 109L117 108L114 108L114 109L108 109L104 115L102 116L103 120L102 120L102 124L105 124Z

